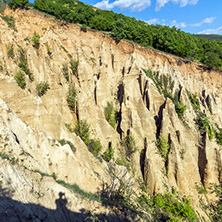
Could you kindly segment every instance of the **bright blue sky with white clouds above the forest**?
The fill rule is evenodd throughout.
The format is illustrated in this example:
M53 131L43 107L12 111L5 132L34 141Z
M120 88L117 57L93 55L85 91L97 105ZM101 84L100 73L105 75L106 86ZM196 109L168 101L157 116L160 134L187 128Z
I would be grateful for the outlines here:
M222 0L81 1L149 24L176 26L192 34L222 34Z

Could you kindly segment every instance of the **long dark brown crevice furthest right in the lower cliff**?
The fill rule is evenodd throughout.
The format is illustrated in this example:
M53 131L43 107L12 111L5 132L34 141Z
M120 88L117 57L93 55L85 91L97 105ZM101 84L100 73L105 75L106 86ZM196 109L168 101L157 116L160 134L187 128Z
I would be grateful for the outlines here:
M205 178L205 169L207 165L206 137L207 137L207 134L204 133L202 135L200 144L198 146L198 168L199 168L200 179L203 185L204 185L204 178Z

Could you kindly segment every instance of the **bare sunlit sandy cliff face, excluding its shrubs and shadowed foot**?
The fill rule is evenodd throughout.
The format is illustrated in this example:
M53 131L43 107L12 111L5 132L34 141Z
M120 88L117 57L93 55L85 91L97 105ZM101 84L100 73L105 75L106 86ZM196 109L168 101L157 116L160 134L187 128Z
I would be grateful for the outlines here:
M93 30L83 32L77 25L34 11L7 9L5 15L13 15L18 31L10 29L0 19L0 98L10 108L9 111L1 101L0 135L3 139L10 138L10 143L2 141L1 152L10 153L12 150L11 155L18 161L11 166L10 161L1 160L2 181L7 181L4 172L12 169L26 180L25 170L19 169L23 165L28 170L37 169L49 175L54 173L58 179L76 183L87 191L102 189L102 183L109 181L105 170L107 163L97 160L83 141L65 127L65 123L74 127L77 119L87 120L92 137L100 139L103 145L101 153L112 144L114 159L123 153L121 139L130 132L137 146L137 151L131 156L135 178L144 180L151 194L164 192L166 187L176 188L190 196L198 214L207 218L199 206L196 186L208 187L211 183L222 182L222 152L216 139L209 140L208 134L200 135L195 121L198 114L187 92L191 95L197 93L200 111L206 113L212 125L222 128L221 71L209 70L197 62L127 41L116 44L108 35ZM38 50L31 42L34 32L40 35ZM7 45L11 43L15 52L13 59L7 56ZM51 48L51 55L46 43ZM13 78L20 70L20 46L27 53L28 67L34 75L34 81L26 78L24 90ZM62 74L62 67L71 59L79 61L78 74L70 73L68 82ZM158 71L160 76L170 79L172 92L178 90L179 101L188 107L182 120L172 100L164 98L144 70ZM39 97L36 84L41 81L48 81L50 89ZM71 83L78 92L75 112L70 111L66 101ZM115 128L104 116L108 102L119 113ZM167 163L156 145L159 136L167 138L170 144ZM61 139L71 141L76 152L72 152L68 145L61 146L57 142ZM39 186L44 185L35 173L28 174L27 180L32 180L32 177L37 177L35 180ZM9 186L3 183L5 188ZM22 182L18 181L18 186L19 183ZM60 188L53 191L54 196L56 191L59 192ZM20 199L16 194L16 200L54 206L55 198L52 196L36 199L26 191L21 192L24 192L24 198ZM206 202L211 198L202 197Z

